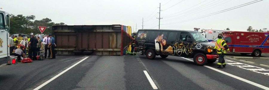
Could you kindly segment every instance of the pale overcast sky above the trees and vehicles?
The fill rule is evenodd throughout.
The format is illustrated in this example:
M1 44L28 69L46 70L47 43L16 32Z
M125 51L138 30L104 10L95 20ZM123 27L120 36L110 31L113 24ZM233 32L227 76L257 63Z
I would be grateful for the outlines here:
M67 25L122 24L137 30L158 29L161 3L161 29L226 29L246 31L269 28L269 0L205 18L193 18L225 10L254 0L1 0L0 7L10 14L35 15ZM182 22L185 20L191 20ZM181 23L175 23L181 22Z

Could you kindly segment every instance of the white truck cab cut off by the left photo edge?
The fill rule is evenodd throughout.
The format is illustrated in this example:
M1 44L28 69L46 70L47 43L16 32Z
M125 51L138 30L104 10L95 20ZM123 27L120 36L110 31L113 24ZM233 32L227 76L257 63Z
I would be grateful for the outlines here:
M8 64L9 61L9 29L10 29L10 16L0 8L0 65Z

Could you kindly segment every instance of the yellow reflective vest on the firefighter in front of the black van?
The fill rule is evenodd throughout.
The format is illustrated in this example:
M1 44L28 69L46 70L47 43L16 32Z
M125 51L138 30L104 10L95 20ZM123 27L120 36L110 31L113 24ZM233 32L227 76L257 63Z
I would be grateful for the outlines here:
M225 42L225 41L222 40L222 39L218 39L217 42L215 43L215 48L214 49L216 49L219 54L226 53L226 50L225 50L224 46L227 45L227 44L224 43L222 45L222 42ZM227 50L229 50L229 48Z

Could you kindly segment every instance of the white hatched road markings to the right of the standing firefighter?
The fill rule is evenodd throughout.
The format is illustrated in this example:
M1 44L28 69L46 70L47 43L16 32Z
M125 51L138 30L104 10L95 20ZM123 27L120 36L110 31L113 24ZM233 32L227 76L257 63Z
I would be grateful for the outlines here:
M226 63L226 64L229 64L229 65L236 66L236 67L239 67L239 68L242 68L242 69L245 69L245 70L250 70L250 71L253 71L253 72L257 72L257 73L261 73L263 75L268 75L269 76L269 74L268 74L269 70L268 69L252 66L252 65L249 65L249 64L243 64L243 63L240 63L240 62L231 61L231 60L227 60L227 59L225 59L225 61L232 62L232 63ZM255 68L244 68L242 66L244 66L244 67L255 67ZM259 72L259 71L268 71L268 72L263 73L263 72Z

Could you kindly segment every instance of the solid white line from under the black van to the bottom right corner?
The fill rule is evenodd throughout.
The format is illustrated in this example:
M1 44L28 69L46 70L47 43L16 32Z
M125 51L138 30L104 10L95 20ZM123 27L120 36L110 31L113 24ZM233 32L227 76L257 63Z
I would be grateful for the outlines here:
M186 59L186 58L184 58L184 59ZM189 60L189 61L192 61L192 62L193 62L193 60L191 60L191 59L186 59L186 60ZM237 77L237 76L232 75L232 74L230 74L230 73L227 73L227 72L224 72L224 71L215 69L215 68L210 67L210 66L207 66L207 65L204 65L204 67L207 67L207 68L209 68L209 69L211 69L211 70L214 70L214 71L220 72L220 73L222 73L222 74L228 75L228 76L230 76L230 77L236 78L236 79L238 79L238 80L244 81L244 82L246 82L246 83L249 83L249 84L251 84L251 85L257 86L257 87L259 87L259 88L262 88L262 89L265 89L265 90L269 90L269 88L266 87L266 86L262 86L262 85L260 85L260 84L258 84L258 83L254 83L254 82L249 81L249 80L246 80L246 79L244 79L244 78Z

